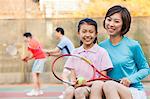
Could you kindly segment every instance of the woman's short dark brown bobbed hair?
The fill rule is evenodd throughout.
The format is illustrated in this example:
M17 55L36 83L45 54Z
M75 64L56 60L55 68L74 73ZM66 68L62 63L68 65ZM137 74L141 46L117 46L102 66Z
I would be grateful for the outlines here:
M122 17L122 21L123 21L123 25L122 25L122 29L121 29L121 36L125 35L129 29L130 29L130 24L131 24L131 15L130 12L127 10L127 8L122 7L120 5L115 5L113 7L111 7L105 16L105 19L103 21L103 26L105 27L105 20L107 17L112 16L115 13L120 13L121 17Z

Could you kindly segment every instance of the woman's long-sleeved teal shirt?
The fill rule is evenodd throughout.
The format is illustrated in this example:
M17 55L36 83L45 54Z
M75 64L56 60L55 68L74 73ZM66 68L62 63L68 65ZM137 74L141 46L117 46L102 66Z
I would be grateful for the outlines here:
M99 45L108 51L114 66L108 75L117 80L127 77L132 82L130 87L143 90L141 80L148 76L150 69L140 44L123 37L115 46L110 39L100 42Z

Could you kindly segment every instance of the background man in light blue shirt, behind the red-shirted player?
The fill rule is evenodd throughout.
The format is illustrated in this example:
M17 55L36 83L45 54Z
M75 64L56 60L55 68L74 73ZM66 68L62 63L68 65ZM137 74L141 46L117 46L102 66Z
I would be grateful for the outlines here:
M74 45L72 41L65 36L64 29L61 27L57 27L55 30L55 38L59 40L59 43L57 44L56 48L52 50L47 50L46 53L48 53L50 56L59 56L62 54L71 54L71 52L74 50ZM65 59L66 61L66 59ZM63 70L63 77L69 76L70 71L68 69ZM59 98L63 98L63 94L59 96Z

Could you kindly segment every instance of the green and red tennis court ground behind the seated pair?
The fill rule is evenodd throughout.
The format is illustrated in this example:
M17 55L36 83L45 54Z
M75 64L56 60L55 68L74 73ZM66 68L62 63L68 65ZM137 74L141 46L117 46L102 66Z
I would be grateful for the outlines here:
M150 83L144 83L146 94L150 99ZM0 99L58 99L63 92L62 84L44 84L44 94L40 96L26 96L26 92L32 89L31 84L0 85Z

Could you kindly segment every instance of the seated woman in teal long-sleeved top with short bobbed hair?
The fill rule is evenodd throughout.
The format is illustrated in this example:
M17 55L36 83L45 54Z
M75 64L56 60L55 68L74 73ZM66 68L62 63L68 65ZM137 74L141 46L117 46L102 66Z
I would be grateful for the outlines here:
M149 74L149 66L140 44L124 36L130 24L131 16L125 7L116 5L106 13L103 26L110 38L99 45L108 51L114 66L108 75L121 80L104 83L107 99L146 99L141 80Z

